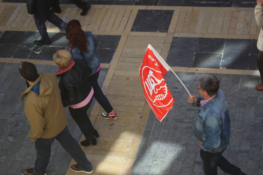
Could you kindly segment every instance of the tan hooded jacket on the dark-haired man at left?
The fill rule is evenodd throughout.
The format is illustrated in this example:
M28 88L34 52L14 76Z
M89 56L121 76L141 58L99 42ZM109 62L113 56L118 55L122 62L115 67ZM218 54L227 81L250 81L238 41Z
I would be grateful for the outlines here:
M39 95L31 89L39 81ZM30 123L29 137L51 138L67 125L67 116L61 102L57 79L53 74L41 73L39 78L21 94L27 120Z

